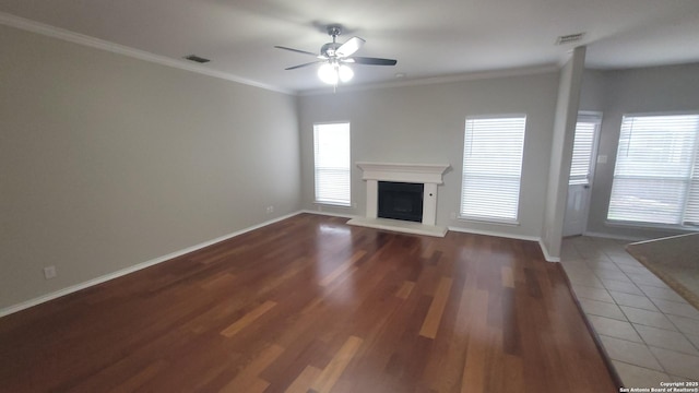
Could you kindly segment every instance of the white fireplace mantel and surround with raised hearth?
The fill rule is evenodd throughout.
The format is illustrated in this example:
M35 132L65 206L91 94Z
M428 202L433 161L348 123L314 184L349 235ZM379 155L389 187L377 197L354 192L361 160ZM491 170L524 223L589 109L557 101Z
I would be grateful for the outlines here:
M367 181L366 218L354 218L348 224L412 234L445 236L447 229L435 225L437 186L443 183L442 176L450 167L449 164L357 163L357 166L363 171L362 178ZM379 181L424 184L422 224L377 217Z

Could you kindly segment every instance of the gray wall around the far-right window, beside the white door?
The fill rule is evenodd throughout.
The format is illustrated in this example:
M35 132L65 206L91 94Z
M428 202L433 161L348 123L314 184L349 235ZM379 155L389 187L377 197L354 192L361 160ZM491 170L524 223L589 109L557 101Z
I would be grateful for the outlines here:
M585 73L581 110L603 111L597 163L592 187L588 231L627 238L657 238L680 230L640 229L606 223L621 117L625 114L698 111L699 64Z

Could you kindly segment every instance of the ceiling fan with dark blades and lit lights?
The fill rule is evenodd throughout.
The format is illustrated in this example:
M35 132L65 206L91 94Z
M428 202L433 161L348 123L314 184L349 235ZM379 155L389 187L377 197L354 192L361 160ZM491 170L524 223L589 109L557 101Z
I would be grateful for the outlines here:
M320 48L320 53L313 53L306 50L287 48L283 46L274 46L279 49L291 50L298 53L310 55L316 57L319 60L294 66L286 68L285 70L296 70L303 67L308 67L312 64L321 64L318 69L318 76L321 81L337 85L337 81L347 82L354 76L354 72L347 63L356 63L356 64L367 64L367 66L395 66L398 63L396 60L393 59L381 59L381 58L370 58L370 57L357 57L354 55L362 46L365 40L359 37L352 37L346 43L341 44L337 43L337 36L342 34L342 26L340 25L330 25L328 26L328 35L332 37L332 43L328 43Z

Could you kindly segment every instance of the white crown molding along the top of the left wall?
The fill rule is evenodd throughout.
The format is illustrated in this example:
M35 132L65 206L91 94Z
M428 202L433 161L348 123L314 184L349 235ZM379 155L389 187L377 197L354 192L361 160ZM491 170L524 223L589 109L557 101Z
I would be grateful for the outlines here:
M202 75L218 78L226 81L236 82L236 83L240 83L240 84L245 84L253 87L264 88L272 92L277 92L277 93L283 93L288 95L296 95L296 92L294 91L288 91L288 90L280 88L276 86L268 85L264 83L251 81L251 80L240 78L227 72L214 71L214 70L208 69L205 66L192 64L192 63L186 62L185 60L177 60L177 59L171 59L165 56L155 55L145 50L135 49L135 48L127 47L123 45L110 43L104 39L91 37L84 34L71 32L71 31L51 26L45 23L20 17L5 12L0 12L0 24L23 29L31 33L45 35L51 38L57 38L57 39L70 41L78 45L83 45L91 48L102 49L102 50L110 51L114 53L128 56L134 59L144 60L144 61L153 62L161 66L196 72Z

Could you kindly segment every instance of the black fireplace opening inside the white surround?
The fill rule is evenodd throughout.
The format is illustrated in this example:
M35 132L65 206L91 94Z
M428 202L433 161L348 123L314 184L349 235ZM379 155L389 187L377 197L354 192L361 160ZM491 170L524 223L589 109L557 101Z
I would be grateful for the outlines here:
M381 218L422 223L425 184L379 181L379 211Z

